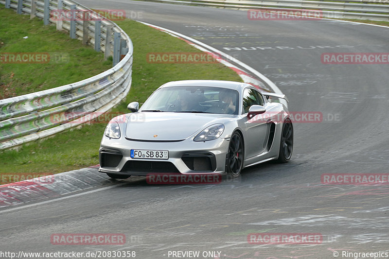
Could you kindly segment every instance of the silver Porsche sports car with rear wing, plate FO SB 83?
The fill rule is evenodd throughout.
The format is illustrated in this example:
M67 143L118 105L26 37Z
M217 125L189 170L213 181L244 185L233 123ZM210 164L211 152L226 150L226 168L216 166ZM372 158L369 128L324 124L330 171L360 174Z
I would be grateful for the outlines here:
M185 80L160 86L139 108L113 118L101 140L99 172L230 174L272 159L287 162L293 126L287 108L246 83Z

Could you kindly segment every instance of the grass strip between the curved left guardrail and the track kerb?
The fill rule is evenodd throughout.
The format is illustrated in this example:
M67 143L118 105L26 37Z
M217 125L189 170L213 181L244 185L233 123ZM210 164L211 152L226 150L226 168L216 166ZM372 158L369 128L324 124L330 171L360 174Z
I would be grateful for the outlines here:
M162 84L187 79L215 79L242 82L231 69L217 64L150 64L150 52L199 52L183 40L159 32L141 23L124 20L118 25L134 44L131 90L126 100L111 113L127 113L127 104L142 104ZM113 116L110 116L113 117ZM85 125L52 138L23 145L18 151L0 153L1 173L59 173L99 163L98 149L106 123Z

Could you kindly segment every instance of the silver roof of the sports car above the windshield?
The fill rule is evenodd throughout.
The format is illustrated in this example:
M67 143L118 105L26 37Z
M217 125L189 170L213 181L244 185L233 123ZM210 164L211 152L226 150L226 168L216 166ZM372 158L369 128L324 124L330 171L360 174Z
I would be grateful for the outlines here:
M223 87L229 89L239 89L251 86L242 82L233 82L233 81L222 81L222 80L181 80L173 81L166 83L162 87L171 87L171 86L213 86L213 87Z

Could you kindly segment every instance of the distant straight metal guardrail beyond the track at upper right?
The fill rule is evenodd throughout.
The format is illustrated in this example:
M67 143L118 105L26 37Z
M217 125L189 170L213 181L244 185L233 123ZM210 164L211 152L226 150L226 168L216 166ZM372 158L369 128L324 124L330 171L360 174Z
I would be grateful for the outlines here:
M177 3L212 6L232 9L265 9L277 11L280 8L319 10L324 18L366 19L389 21L387 0L360 0L361 3L345 1L316 0L145 0L150 2ZM358 0L356 0L358 1ZM389 0L388 0L389 1Z

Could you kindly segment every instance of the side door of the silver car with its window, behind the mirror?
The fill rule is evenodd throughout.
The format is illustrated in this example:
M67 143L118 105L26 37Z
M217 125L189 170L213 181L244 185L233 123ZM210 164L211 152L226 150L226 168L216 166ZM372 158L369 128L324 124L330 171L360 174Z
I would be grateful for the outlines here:
M251 119L247 117L248 109L251 105L264 105L263 96L253 88L246 88L242 95L243 115L246 125L247 137L245 139L246 155L245 158L251 158L262 154L266 150L266 143L269 133L271 119L268 113L258 114Z

